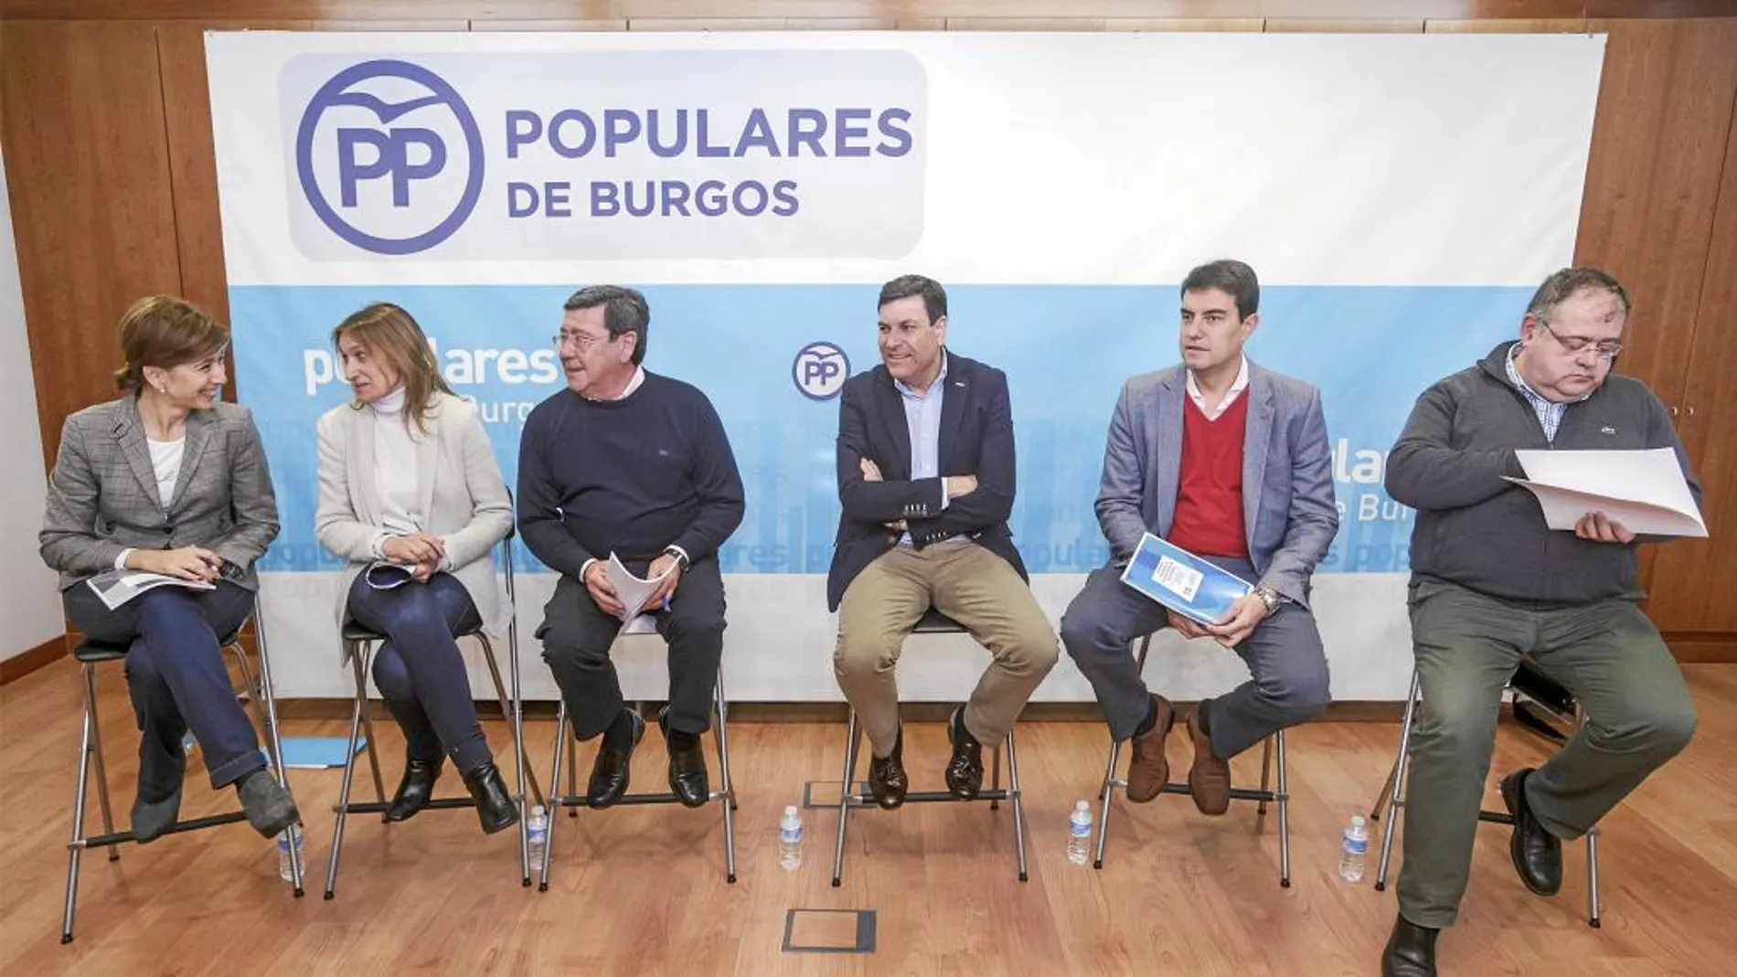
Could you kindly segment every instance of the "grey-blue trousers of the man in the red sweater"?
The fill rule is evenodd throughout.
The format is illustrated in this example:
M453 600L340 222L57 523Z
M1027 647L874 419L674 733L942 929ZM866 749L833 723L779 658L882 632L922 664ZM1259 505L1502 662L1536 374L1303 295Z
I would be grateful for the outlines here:
M1256 580L1249 561L1214 557L1214 564ZM1098 694L1110 734L1127 739L1146 717L1150 692L1134 670L1129 644L1169 626L1164 606L1100 567L1061 616L1061 644ZM1315 616L1284 602L1254 633L1237 646L1251 680L1212 699L1207 729L1212 753L1223 760L1242 753L1280 729L1318 717L1329 701L1327 654Z

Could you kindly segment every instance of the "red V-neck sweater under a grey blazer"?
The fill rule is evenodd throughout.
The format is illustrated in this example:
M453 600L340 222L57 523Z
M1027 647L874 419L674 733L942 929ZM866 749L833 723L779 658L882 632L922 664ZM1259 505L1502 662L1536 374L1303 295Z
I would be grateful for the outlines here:
M1169 541L1202 557L1249 557L1242 522L1242 439L1249 429L1249 392L1207 420L1183 396L1183 469Z

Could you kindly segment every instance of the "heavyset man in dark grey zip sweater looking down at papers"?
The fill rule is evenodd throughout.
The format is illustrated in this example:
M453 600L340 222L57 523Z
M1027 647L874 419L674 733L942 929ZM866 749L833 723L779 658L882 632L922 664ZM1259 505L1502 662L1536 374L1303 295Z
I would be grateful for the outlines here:
M1423 687L1390 977L1435 974L1436 934L1454 923L1471 871L1503 687L1522 654L1588 715L1562 753L1501 784L1515 869L1539 895L1562 887L1562 840L1584 835L1695 729L1683 675L1636 606L1636 534L1600 510L1551 529L1539 500L1509 481L1529 474L1532 451L1558 462L1666 448L1676 460L1666 475L1699 503L1666 406L1610 371L1626 319L1628 295L1608 274L1551 274L1520 340L1424 390L1388 456L1388 495L1417 508L1410 620ZM1572 463L1548 469L1530 474L1574 481ZM1631 470L1647 469L1610 465L1608 491L1595 495L1628 495Z

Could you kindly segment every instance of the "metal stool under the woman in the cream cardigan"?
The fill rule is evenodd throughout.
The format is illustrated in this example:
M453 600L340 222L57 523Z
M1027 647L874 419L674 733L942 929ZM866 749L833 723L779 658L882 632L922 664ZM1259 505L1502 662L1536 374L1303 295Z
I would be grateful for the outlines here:
M512 585L512 536L509 529L507 536L500 541L500 562L505 567L507 583L507 607L511 616L507 618L507 673L511 675L511 692L500 684L500 663L495 659L495 646L488 640L488 633L478 625L469 632L459 635L462 639L476 639L483 651L483 661L488 663L488 677L495 682L495 696L500 699L500 713L507 718L512 727L512 757L514 767L518 770L516 788L518 793L514 800L519 807L519 885L532 883L532 856L530 856L530 833L526 824L526 805L525 805L525 784L530 783L532 793L537 802L542 803L544 793L542 786L537 784L537 776L532 774L530 764L525 757L525 699L519 691L519 623L518 623L518 593ZM332 826L332 856L327 862L327 890L325 897L332 899L337 890L337 866L339 854L344 847L344 824L349 814L380 814L384 821L386 809L391 803L386 802L386 786L380 783L380 758L373 750L373 720L368 717L368 661L379 649L386 635L379 635L363 628L361 625L351 621L342 628L344 656L351 663L351 677L356 682L356 699L349 713L349 746L344 750L344 779L339 786L337 805L332 807L335 823ZM353 803L349 800L349 788L356 774L356 738L367 729L368 741L368 769L373 772L373 802ZM469 797L441 797L427 802L431 810L445 810L457 807L472 807L474 802Z

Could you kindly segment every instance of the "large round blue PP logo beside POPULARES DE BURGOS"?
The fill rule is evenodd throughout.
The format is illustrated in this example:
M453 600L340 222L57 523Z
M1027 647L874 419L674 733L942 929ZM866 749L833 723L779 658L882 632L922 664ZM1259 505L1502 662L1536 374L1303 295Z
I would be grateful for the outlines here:
M413 255L450 238L483 193L483 134L439 75L365 61L314 92L295 132L302 194L339 238Z

